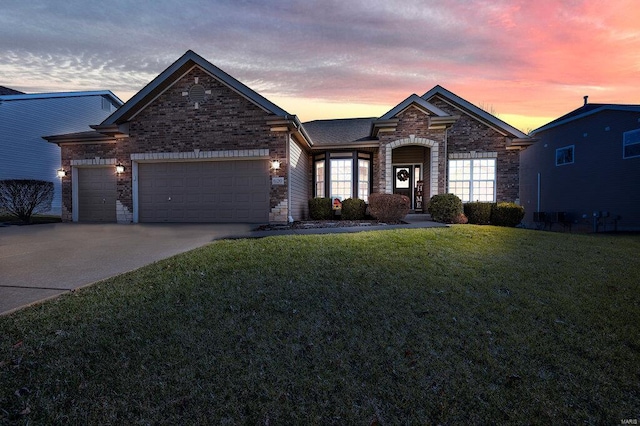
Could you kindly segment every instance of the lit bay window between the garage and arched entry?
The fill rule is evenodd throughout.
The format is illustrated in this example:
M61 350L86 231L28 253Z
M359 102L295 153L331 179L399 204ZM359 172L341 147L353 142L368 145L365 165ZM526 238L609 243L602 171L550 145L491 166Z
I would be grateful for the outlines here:
M314 196L360 198L367 202L371 191L371 154L325 152L314 160Z

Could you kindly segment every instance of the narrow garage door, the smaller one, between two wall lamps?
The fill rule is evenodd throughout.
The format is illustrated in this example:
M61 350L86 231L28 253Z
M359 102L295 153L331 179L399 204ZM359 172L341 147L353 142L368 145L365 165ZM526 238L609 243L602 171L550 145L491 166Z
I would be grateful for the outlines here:
M113 167L78 169L78 220L116 221L116 171Z

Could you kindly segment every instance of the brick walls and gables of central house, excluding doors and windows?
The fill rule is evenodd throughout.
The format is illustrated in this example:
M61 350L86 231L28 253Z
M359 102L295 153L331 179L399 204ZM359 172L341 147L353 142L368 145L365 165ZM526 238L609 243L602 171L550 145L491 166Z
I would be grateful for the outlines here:
M366 133L361 120L356 129ZM368 135L339 140L343 135L349 135L345 139L354 136L352 129L343 128L339 137L329 138L331 143L312 146L312 138L297 117L188 51L97 126L95 135L52 138L62 148L62 167L67 171L74 167L125 166L125 171L116 178L114 208L118 222L137 218L134 179L137 165L143 161L278 160L280 168L271 169L268 177L283 178L284 182L280 179L270 182L268 220L286 222L293 217L294 210L304 211L305 197L314 194L314 153L348 151L354 153L355 159L356 151L370 152L370 192L390 193L394 182L393 150L409 146L422 147L411 151L418 154L410 154L402 161L410 163L415 156L414 164L422 165L425 197L447 192L450 159L496 158L497 200L517 200L519 151L509 150L508 144L509 137L514 137L519 144L526 145L527 141L523 141L526 135L446 89L436 86L423 98L412 95L370 124ZM291 167L289 147L297 149ZM297 174L290 183L292 170ZM78 217L78 212L73 212L73 202L77 201L73 194L74 174L77 173L62 180L65 221ZM263 201L265 207L260 211L266 209L266 199Z

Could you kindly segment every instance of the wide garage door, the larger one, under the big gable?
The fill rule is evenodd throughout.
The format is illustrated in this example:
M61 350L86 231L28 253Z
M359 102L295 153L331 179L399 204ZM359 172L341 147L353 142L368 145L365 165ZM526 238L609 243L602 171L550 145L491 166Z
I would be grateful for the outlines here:
M266 160L138 164L140 222L267 222Z

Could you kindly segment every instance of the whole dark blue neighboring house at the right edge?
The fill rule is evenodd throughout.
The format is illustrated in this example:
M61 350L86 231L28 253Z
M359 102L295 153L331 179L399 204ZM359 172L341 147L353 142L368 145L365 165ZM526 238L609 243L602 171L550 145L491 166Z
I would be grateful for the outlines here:
M532 136L520 156L525 225L640 229L640 105L585 98Z

